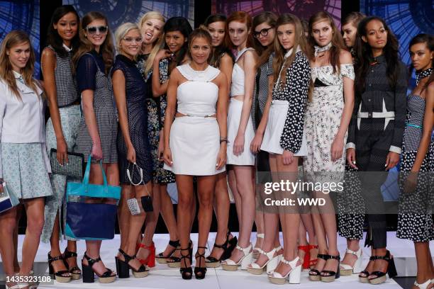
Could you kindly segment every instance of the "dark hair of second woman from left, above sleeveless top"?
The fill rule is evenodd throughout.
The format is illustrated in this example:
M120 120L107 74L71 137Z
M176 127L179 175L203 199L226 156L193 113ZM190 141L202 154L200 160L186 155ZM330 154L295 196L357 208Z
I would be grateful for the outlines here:
M67 57L68 52L65 50L65 47L63 47L63 39L60 37L59 33L57 33L57 29L55 29L54 26L60 21L60 18L65 16L67 13L73 13L77 18L77 34L74 35L71 40L72 52L77 52L78 47L80 46L80 18L77 11L75 11L74 6L72 5L57 7L54 13L52 13L50 26L48 26L47 44L51 45L60 57Z

